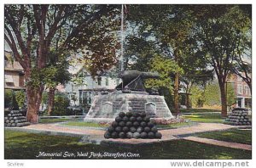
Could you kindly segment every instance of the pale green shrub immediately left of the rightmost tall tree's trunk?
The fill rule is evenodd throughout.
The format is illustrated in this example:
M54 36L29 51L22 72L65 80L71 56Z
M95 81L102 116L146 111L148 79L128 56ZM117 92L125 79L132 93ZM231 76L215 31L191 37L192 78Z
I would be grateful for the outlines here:
M207 84L205 88L205 104L207 105L220 105L220 90L218 87L218 83L210 83Z

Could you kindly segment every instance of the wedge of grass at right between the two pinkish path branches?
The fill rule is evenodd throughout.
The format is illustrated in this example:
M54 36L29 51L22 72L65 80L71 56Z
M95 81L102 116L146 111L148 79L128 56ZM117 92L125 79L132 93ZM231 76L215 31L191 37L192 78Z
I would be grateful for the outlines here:
M195 134L196 137L207 137L232 143L252 144L252 130L230 129L218 132L203 132Z

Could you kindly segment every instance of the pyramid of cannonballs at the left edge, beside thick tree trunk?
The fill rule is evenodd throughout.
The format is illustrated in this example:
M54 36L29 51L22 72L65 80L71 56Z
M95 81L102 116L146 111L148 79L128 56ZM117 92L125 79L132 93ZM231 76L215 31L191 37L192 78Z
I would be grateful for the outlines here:
M20 127L28 125L30 125L30 122L26 121L26 117L23 116L19 110L12 110L4 117L4 126Z

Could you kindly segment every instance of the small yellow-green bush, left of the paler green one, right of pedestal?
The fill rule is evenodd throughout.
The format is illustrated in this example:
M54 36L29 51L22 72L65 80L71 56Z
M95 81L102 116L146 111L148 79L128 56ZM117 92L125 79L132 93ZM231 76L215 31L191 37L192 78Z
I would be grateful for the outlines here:
M201 87L193 86L191 87L191 95L189 96L190 102L193 108L201 107L204 103L204 91Z

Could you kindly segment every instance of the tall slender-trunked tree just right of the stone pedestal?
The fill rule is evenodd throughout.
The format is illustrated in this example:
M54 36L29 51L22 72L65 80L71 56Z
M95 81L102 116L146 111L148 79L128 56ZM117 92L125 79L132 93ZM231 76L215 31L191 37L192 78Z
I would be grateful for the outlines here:
M191 31L193 20L190 11L182 5L134 5L131 7L128 19L137 22L140 30L154 37L160 42L162 53L181 65L184 57L183 48ZM179 113L179 84L180 71L175 73L174 80L174 109Z

